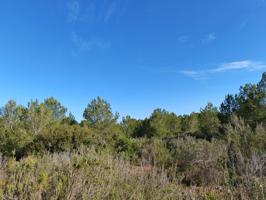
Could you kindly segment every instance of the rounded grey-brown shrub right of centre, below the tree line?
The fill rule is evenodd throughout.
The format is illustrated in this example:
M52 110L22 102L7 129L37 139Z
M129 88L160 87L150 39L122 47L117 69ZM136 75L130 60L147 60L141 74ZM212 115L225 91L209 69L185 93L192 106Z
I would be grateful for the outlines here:
M224 184L227 176L226 145L192 138L177 139L171 148L171 163L186 185Z

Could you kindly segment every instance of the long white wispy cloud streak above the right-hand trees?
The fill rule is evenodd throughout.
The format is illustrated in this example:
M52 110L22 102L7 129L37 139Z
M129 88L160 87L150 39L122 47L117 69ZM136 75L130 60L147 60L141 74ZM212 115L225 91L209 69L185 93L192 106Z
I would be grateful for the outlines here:
M228 72L228 71L256 71L266 69L266 64L263 62L243 60L222 63L216 66L216 68L206 70L181 70L179 73L191 77L195 80L205 79L212 74Z

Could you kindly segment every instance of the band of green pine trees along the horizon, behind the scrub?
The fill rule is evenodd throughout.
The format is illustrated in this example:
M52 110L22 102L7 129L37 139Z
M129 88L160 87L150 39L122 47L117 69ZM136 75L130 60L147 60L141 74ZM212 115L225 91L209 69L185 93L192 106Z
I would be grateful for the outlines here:
M165 109L155 109L149 118L130 116L118 122L119 114L101 97L85 108L78 123L67 108L55 98L32 100L18 105L10 100L0 110L0 150L17 158L31 153L65 151L80 145L123 149L132 138L195 137L211 141L225 139L232 119L243 120L252 131L266 126L266 73L258 84L241 86L238 94L229 94L218 109L208 103L199 113L178 116ZM118 141L121 140L121 141ZM124 140L124 141L122 141Z

